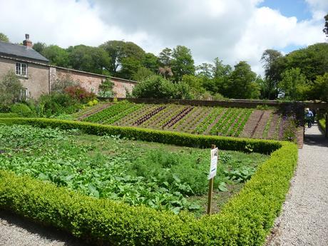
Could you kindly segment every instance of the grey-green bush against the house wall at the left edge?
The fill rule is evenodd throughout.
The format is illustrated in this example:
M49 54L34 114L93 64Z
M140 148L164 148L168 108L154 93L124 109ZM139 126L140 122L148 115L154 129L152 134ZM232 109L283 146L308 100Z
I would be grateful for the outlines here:
M23 86L14 71L8 71L0 79L0 106L9 106L14 101L20 101Z

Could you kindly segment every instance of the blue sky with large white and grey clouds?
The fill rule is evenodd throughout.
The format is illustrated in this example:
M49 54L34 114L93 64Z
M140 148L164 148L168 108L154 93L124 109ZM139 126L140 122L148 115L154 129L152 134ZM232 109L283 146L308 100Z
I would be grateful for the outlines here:
M155 55L183 45L196 65L247 61L260 74L268 48L289 53L327 41L327 0L0 0L0 10L0 33L13 43L25 34L63 48L124 40Z

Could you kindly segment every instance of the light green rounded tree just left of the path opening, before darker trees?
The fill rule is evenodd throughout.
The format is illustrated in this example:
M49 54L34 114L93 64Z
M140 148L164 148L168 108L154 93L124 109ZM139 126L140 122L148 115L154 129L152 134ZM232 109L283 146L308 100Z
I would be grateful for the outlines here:
M279 88L285 93L284 98L292 101L304 99L304 92L307 91L307 79L301 73L300 68L291 68L282 73L282 81Z

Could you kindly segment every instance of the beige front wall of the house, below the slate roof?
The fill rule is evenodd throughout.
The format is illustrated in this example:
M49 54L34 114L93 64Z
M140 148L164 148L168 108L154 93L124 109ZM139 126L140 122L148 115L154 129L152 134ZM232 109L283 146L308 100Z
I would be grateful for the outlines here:
M19 76L19 81L27 89L30 98L37 99L42 94L49 93L49 69L42 64L0 57L0 78L10 70L15 72L16 62L27 64L27 76Z

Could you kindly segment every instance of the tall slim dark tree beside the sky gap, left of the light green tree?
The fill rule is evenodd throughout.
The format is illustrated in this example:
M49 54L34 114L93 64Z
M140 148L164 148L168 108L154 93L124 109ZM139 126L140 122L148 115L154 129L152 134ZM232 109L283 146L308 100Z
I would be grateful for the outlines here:
M274 49L267 49L263 52L261 61L265 68L265 81L263 81L263 98L275 99L278 96L277 84L280 81L280 73L282 73L282 66L280 66L280 58L282 53Z

